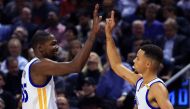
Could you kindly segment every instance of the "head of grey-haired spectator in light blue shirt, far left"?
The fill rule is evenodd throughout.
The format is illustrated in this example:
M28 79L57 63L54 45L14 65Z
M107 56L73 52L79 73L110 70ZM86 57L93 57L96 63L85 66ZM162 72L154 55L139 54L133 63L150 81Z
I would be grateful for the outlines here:
M8 50L11 56L17 57L21 53L21 43L18 39L12 38L8 43Z

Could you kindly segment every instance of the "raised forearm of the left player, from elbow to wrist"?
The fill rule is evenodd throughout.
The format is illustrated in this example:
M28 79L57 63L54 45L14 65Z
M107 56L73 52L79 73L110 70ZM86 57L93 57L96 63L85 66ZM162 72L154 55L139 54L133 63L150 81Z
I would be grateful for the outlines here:
M91 32L82 50L73 59L73 64L77 66L77 69L81 70L86 63L93 43L95 41L95 33Z

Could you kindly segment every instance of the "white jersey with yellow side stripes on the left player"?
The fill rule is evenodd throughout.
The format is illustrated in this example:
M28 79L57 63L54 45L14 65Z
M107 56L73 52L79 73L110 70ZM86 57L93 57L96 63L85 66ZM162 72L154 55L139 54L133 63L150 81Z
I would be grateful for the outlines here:
M32 82L30 67L38 61L38 58L34 58L24 68L21 82L22 109L57 109L53 76L44 85L36 85Z

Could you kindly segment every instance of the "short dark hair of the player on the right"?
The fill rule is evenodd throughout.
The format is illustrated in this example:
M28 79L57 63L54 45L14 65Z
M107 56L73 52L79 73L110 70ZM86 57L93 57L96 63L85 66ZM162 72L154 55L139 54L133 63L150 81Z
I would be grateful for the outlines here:
M154 44L145 44L141 48L145 52L145 55L157 62L162 63L163 61L163 51L160 47Z

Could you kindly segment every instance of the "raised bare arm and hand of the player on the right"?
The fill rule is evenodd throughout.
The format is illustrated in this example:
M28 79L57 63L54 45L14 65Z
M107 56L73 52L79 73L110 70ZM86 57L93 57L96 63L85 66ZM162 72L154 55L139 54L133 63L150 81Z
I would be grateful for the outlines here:
M112 38L112 30L115 26L114 11L111 12L111 18L106 19L105 33L106 33L106 51L111 68L116 74L125 80L128 80L131 84L135 85L137 80L141 77L135 74L124 65L122 65L121 57L117 52L115 43Z

